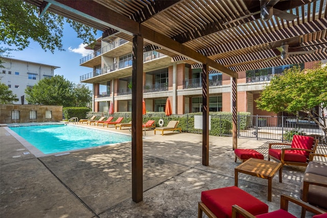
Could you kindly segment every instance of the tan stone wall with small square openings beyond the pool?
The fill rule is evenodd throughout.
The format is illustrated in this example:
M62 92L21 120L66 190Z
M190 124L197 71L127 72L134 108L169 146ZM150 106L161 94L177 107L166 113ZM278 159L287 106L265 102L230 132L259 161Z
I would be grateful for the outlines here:
M0 124L54 122L62 120L62 106L0 105Z

